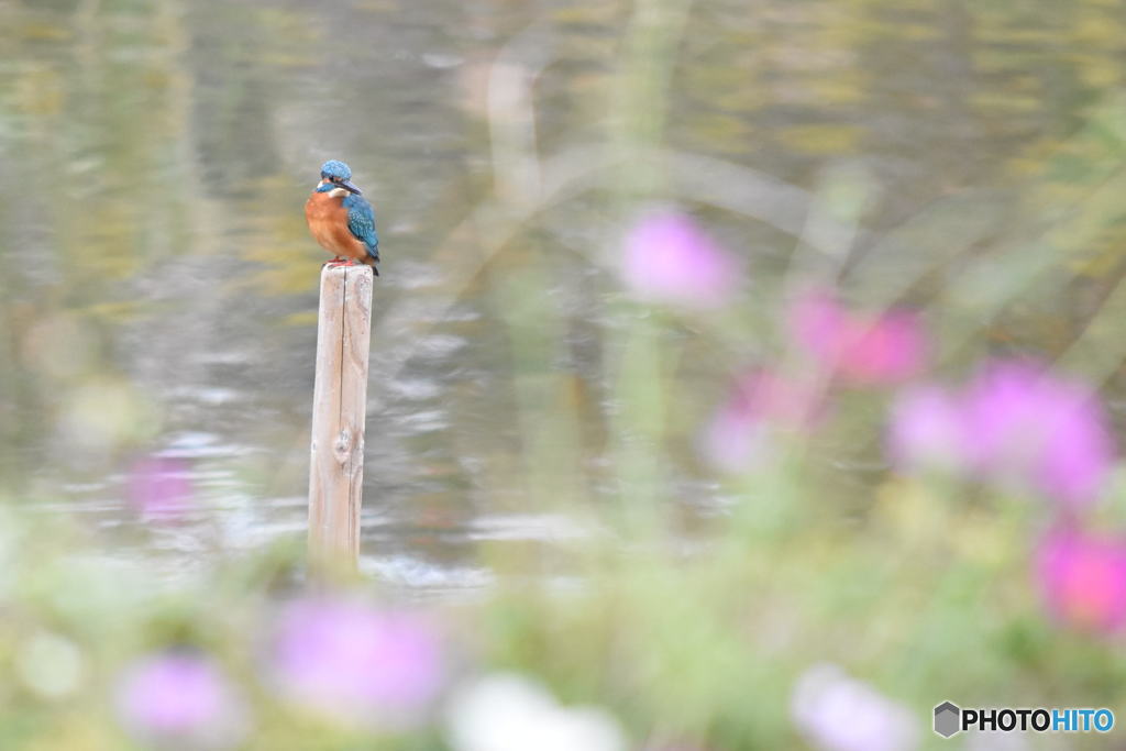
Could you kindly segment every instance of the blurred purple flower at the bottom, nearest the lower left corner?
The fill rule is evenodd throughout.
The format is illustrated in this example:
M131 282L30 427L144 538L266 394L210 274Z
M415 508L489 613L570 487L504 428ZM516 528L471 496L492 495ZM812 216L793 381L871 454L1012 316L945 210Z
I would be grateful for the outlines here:
M245 734L247 717L220 670L190 652L166 652L129 668L117 691L122 725L155 748L226 749Z

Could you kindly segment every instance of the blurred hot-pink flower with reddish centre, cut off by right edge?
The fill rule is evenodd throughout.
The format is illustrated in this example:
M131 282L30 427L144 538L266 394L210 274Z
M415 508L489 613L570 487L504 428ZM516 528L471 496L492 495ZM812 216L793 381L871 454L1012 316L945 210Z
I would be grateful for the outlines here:
M1035 573L1060 622L1096 632L1126 624L1126 539L1054 529L1040 542Z

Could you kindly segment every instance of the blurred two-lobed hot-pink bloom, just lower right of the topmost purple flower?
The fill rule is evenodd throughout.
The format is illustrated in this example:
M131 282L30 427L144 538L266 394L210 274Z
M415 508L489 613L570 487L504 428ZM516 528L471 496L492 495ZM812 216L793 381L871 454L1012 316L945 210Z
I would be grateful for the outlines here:
M848 383L895 384L926 367L927 337L912 312L861 316L850 313L829 293L813 292L797 299L789 319L797 343L825 373Z

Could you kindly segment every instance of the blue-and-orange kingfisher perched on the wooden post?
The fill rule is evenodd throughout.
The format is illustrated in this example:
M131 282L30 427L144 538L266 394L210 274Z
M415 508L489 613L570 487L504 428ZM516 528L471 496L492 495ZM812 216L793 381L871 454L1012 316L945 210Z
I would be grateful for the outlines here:
M330 266L366 263L379 276L379 238L375 212L351 184L351 170L330 159L321 166L321 181L305 202L305 221L313 238L333 254Z

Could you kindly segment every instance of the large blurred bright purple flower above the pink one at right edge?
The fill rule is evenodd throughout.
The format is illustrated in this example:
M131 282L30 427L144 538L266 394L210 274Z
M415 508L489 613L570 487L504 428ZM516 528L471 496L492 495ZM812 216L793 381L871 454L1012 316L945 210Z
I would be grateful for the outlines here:
M986 367L965 396L969 446L986 473L1026 479L1080 506L1098 495L1115 446L1099 403L1084 386L1028 363Z

